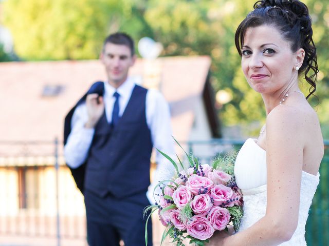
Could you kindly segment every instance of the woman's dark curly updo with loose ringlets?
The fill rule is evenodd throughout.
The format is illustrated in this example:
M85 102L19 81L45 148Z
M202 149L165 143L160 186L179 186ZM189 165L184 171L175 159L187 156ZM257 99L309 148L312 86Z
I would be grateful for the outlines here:
M291 43L291 50L305 50L303 65L298 73L304 73L310 84L309 94L316 90L318 70L316 47L312 39L312 20L305 4L298 0L262 0L253 5L251 11L235 32L235 47L240 56L244 36L249 27L269 25L276 27L282 37Z

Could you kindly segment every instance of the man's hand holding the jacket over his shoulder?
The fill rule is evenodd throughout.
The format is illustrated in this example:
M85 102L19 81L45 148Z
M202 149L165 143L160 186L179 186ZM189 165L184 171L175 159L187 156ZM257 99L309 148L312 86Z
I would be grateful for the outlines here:
M94 128L104 112L103 97L96 93L87 95L86 107L88 120L85 124L86 128Z

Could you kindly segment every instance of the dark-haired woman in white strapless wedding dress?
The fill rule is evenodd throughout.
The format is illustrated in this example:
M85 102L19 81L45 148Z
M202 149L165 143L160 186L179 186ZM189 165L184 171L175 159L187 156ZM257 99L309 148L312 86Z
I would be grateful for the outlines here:
M244 75L263 98L267 117L235 163L244 195L240 231L218 233L210 245L306 245L308 210L319 183L323 139L307 103L318 73L307 7L298 0L258 1L235 33ZM306 99L299 77L310 84Z

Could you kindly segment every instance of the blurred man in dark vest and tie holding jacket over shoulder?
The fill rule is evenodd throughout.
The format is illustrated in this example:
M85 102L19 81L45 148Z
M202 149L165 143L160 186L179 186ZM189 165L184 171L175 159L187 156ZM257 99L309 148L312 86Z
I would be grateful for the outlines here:
M100 59L107 81L90 87L66 116L64 155L84 195L89 245L145 245L143 209L154 203L156 183L173 174L157 154L150 186L153 146L174 153L169 107L158 91L128 76L136 60L129 35L109 35ZM151 221L148 232L152 245Z

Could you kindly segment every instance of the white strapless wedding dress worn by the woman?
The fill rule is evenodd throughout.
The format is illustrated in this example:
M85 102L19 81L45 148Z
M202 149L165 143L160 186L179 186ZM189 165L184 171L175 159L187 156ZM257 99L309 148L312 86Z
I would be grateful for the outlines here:
M266 212L266 152L255 139L248 138L236 157L234 173L244 200L240 231L251 227ZM298 226L293 237L280 246L305 246L308 210L319 183L316 176L302 171Z

